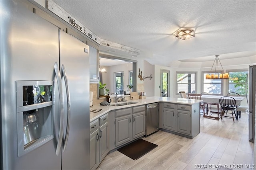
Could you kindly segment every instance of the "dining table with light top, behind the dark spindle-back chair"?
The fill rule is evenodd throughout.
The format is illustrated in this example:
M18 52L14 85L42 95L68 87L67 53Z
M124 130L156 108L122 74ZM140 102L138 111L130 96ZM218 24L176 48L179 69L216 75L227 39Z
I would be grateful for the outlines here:
M203 94L201 96L201 100L203 100L203 104L204 104L204 117L210 117L210 118L214 118L214 119L220 119L220 102L219 99L223 97L223 96L219 96L219 95L205 95ZM236 105L239 106L242 102L242 100L244 100L244 97L242 96L230 96L232 98L234 98L236 100ZM209 106L210 105L210 110L209 110ZM215 105L217 107L217 111L212 111L212 105Z

